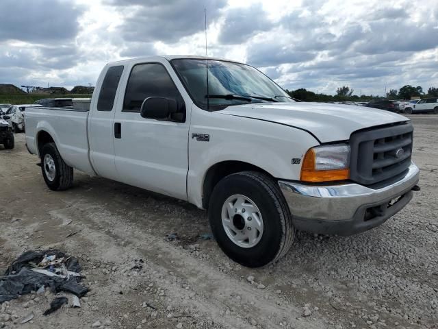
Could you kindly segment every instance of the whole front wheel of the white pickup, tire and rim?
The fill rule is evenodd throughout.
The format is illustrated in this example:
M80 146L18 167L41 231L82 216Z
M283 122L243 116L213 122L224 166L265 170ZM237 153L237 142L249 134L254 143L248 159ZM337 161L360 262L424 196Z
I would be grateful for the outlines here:
M247 267L281 258L294 242L292 216L280 188L256 171L233 173L215 186L209 221L222 251Z

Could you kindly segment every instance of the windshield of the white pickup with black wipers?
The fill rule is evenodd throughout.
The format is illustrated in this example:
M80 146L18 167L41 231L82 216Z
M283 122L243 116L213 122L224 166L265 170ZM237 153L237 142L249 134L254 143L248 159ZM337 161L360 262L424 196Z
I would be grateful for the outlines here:
M205 60L172 60L194 103L204 110L266 101L294 101L277 84L252 66L221 60L208 60L209 98Z

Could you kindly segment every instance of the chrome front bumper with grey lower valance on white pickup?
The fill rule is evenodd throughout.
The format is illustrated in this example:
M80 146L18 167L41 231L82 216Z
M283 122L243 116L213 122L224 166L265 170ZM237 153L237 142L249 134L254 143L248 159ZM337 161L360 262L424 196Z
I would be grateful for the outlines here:
M411 163L398 181L381 188L360 184L330 186L279 181L298 230L350 235L380 225L411 200L420 169ZM398 202L389 206L391 200Z

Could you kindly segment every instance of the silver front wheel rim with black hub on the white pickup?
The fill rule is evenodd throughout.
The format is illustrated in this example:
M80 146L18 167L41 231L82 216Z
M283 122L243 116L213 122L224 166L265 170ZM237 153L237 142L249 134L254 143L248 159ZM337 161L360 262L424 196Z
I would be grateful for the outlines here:
M250 248L263 236L263 218L255 202L244 195L231 195L222 206L222 226L233 243Z

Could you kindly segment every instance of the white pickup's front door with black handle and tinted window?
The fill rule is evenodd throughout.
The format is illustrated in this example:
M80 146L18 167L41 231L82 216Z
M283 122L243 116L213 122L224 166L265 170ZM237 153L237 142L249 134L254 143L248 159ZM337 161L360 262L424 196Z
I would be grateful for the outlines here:
M126 184L187 199L189 119L185 110L190 107L180 93L182 86L177 88L170 73L181 85L168 62L144 62L131 68L114 119L116 169L118 180ZM141 117L140 108L148 97L176 101L183 119Z

